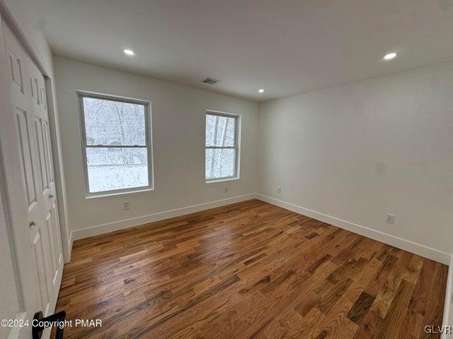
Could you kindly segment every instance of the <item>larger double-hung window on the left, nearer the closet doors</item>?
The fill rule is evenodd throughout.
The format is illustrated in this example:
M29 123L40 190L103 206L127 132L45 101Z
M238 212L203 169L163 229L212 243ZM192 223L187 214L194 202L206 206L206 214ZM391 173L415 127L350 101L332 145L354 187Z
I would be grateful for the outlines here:
M151 189L149 102L79 93L88 194Z

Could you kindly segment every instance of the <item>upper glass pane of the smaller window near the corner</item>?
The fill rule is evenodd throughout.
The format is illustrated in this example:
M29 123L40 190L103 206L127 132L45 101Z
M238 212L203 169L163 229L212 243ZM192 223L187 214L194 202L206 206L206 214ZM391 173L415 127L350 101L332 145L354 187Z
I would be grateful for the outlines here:
M236 119L206 114L206 145L233 147Z

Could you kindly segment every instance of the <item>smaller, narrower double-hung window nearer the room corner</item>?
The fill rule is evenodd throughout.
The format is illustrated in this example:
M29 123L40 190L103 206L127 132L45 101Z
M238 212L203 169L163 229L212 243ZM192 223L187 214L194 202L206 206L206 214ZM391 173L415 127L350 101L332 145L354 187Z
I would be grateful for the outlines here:
M238 177L238 120L236 115L207 112L205 178L207 182Z

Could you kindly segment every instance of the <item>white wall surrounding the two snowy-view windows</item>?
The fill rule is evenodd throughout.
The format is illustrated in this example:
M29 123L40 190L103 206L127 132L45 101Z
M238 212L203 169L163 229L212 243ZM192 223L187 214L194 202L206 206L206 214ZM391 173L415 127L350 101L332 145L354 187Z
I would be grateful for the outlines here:
M256 102L62 57L54 57L54 61L69 225L74 231L114 223L74 232L74 238L139 225L146 220L139 218L144 215L256 191ZM154 191L86 198L76 90L151 101ZM205 183L206 109L241 114L239 180ZM228 186L227 193L224 186ZM129 210L122 210L122 201L130 201ZM139 219L115 223L130 218Z

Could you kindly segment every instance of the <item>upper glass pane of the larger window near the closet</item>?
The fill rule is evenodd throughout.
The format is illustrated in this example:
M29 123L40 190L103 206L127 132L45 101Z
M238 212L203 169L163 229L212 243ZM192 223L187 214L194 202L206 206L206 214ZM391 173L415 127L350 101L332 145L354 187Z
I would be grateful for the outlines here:
M146 145L144 105L84 97L87 145Z

